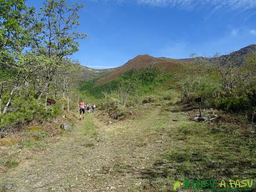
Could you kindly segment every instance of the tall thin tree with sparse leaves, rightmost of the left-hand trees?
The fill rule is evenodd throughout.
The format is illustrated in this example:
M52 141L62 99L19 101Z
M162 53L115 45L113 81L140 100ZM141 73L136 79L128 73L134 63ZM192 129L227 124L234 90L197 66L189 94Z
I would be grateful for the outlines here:
M38 93L38 100L43 93L46 93L47 99L50 84L55 82L56 73L61 71L60 68L70 67L68 66L70 62L63 61L63 58L78 51L77 40L86 37L85 34L77 32L78 12L83 7L82 4L76 3L68 7L65 0L47 0L43 5L39 13L40 21L38 21L41 23L42 31L39 35L35 35L33 40L36 50L48 57L49 62L46 62L43 67L45 85Z

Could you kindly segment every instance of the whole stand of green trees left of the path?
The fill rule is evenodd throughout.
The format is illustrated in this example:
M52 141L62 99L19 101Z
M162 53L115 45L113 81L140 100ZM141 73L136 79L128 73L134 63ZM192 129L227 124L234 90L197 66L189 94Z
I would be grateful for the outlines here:
M63 94L70 108L71 74L79 67L68 57L78 51L77 40L86 37L77 32L82 7L46 0L36 15L35 8L26 7L23 0L0 0L0 126L32 120L33 106L41 109L40 100L45 99L46 105L48 96L55 95L57 100ZM23 111L13 105L22 106ZM47 109L40 115L51 114L44 112ZM17 112L22 114L13 114Z

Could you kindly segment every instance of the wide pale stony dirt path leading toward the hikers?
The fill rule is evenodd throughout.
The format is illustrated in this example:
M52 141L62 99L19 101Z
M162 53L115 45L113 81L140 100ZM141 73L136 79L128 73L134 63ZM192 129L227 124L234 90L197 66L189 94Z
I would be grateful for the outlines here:
M157 134L157 114L110 125L90 114L70 135L1 174L0 185L13 184L2 191L142 191L145 170L168 138Z

